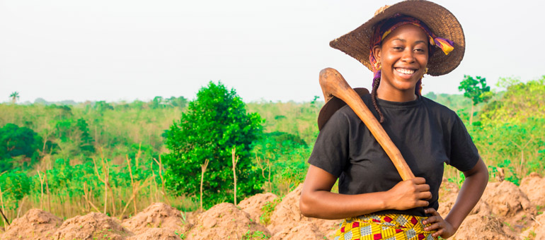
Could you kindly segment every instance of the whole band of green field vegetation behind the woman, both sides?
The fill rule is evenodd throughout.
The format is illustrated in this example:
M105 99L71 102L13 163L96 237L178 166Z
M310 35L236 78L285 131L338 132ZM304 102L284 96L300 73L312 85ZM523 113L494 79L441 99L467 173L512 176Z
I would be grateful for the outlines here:
M505 91L478 105L464 95L425 97L459 114L491 177L501 168L519 184L545 169L545 77L503 78L500 87ZM0 208L10 221L30 208L65 218L90 210L128 217L156 201L196 210L209 160L202 174L208 208L234 200L234 149L237 200L258 191L285 196L302 183L323 102L244 104L234 90L210 83L187 104L184 97L0 104ZM452 167L445 176L463 178Z

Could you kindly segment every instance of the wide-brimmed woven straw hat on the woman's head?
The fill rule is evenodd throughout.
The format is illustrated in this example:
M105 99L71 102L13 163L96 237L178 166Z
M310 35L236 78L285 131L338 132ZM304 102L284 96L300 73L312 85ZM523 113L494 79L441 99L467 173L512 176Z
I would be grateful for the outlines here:
M379 8L374 13L374 17L366 23L352 30L352 32L329 42L329 45L357 59L372 71L369 63L369 52L371 51L369 41L374 33L374 25L381 20L394 16L396 13L418 18L428 25L428 28L437 37L447 38L454 42L454 50L448 55L437 50L430 56L430 59L428 59L429 75L440 76L447 74L460 64L466 49L464 30L461 29L460 23L447 8L425 0L401 1L392 6Z

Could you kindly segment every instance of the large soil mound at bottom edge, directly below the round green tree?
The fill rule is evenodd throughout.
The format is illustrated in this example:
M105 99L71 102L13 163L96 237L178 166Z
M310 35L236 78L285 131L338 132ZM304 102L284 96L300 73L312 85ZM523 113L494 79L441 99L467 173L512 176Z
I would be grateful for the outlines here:
M197 217L197 223L185 239L243 239L254 232L263 232L270 236L265 227L250 219L250 215L239 210L232 203L214 205Z

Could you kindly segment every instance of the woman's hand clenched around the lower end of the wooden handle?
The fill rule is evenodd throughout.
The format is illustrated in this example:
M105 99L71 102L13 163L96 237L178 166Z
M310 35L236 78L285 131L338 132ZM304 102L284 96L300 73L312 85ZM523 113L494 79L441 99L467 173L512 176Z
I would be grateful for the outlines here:
M432 198L430 185L426 184L423 177L400 181L386 193L389 196L388 208L395 210L426 207L430 205L428 200Z

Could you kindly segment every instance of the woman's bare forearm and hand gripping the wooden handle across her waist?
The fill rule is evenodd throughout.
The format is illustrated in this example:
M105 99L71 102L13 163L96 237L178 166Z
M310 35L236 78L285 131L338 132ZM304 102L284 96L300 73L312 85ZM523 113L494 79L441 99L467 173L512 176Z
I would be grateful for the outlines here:
M299 200L304 216L342 219L386 209L406 210L425 207L432 197L430 186L421 177L401 181L389 191L357 195L331 193L335 181L337 177L310 165Z

